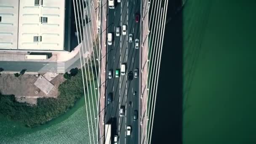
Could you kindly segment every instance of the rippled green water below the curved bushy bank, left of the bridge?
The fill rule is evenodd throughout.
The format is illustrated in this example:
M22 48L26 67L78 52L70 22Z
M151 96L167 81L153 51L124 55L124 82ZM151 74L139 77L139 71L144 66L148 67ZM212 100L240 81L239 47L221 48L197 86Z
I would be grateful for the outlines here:
M86 99L88 103L88 97ZM93 108L92 100L90 99L90 101L91 108ZM89 131L85 110L85 98L83 96L64 115L36 128L26 128L19 123L6 120L1 115L0 144L87 144ZM94 125L93 129L96 130ZM91 139L93 139L93 132L96 136L95 131L91 130Z

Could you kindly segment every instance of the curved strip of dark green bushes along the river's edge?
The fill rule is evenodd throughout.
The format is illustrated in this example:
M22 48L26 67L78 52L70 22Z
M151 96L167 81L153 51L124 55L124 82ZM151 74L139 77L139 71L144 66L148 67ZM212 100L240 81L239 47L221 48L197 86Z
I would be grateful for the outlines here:
M91 80L95 79L92 72L90 74ZM18 121L27 127L45 124L47 121L67 112L83 96L82 77L82 71L79 69L76 75L59 85L57 98L38 98L36 107L17 102L14 95L0 95L0 113L8 120Z

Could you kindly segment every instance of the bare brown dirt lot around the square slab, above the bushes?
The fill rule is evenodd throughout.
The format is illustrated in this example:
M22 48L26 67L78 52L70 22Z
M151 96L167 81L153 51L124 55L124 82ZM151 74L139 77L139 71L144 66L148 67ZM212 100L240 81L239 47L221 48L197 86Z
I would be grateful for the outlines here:
M40 75L44 75L43 73ZM51 83L54 85L52 91L46 95L40 91L34 83L37 80L36 75L24 74L15 77L13 74L0 75L0 92L4 95L13 94L18 97L37 98L37 97L56 97L58 96L58 87L64 82L62 74L57 75Z

